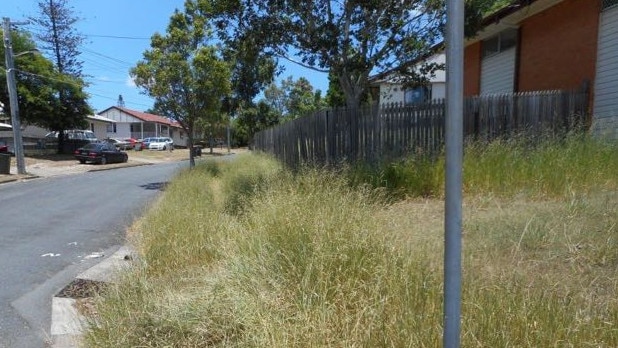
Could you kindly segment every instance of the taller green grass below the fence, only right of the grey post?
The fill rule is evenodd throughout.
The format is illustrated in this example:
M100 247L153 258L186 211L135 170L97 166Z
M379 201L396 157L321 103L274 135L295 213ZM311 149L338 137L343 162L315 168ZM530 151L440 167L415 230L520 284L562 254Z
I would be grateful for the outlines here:
M585 135L531 145L525 139L466 148L465 190L501 196L568 197L618 187L618 146Z

